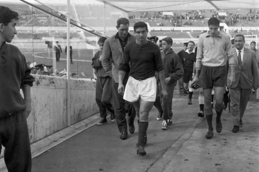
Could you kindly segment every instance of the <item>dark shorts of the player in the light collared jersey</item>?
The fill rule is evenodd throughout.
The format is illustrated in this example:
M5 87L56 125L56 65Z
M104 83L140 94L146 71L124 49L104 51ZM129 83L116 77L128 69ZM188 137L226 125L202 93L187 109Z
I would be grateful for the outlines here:
M226 66L202 66L198 85L202 88L225 87Z

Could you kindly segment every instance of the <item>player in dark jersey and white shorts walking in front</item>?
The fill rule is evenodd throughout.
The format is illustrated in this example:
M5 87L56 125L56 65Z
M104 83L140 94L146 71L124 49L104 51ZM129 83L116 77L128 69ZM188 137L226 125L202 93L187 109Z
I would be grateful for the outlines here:
M125 46L124 57L119 66L118 93L123 99L132 102L138 120L137 154L146 155L146 131L148 128L148 114L156 99L156 78L158 73L161 84L161 97L165 99L165 75L159 47L146 39L148 28L146 23L140 21L134 24L136 41ZM130 61L129 79L126 87L123 79ZM125 92L124 92L125 90Z

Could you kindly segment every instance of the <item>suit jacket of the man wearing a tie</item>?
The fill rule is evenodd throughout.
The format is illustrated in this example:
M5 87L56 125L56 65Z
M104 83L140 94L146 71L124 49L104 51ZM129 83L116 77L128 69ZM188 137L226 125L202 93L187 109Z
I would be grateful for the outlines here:
M252 89L254 86L259 86L259 73L255 52L244 48L244 55L241 67L238 63L236 48L233 48L235 54L235 83L232 87L235 89L240 81L242 89ZM229 82L227 81L227 84Z

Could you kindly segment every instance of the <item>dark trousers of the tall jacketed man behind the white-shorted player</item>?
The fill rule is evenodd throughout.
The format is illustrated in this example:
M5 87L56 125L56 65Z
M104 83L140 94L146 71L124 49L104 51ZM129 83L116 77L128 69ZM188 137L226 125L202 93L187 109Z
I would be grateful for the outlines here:
M125 86L127 83L127 77L124 77L123 85ZM123 99L123 95L118 93L118 86L119 84L116 83L113 79L113 108L115 113L115 119L117 122L117 126L119 128L119 132L127 131L127 120L125 118L125 100ZM129 124L134 123L134 119L136 117L136 111L133 107L133 104L130 103L128 109L128 116L129 116Z

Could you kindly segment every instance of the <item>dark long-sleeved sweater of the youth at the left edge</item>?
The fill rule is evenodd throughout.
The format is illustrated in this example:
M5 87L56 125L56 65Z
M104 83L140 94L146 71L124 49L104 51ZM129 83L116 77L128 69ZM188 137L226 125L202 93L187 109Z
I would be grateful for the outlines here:
M30 73L20 50L3 42L0 50L0 118L25 110L20 87L22 84L33 86L35 80Z

